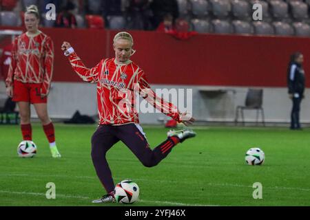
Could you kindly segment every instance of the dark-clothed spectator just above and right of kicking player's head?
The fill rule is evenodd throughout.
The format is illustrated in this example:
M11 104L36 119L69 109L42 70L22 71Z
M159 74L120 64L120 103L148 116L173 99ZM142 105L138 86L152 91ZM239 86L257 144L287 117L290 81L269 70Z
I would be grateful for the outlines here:
M152 30L149 18L152 11L148 0L130 0L127 8L128 28L131 30Z

